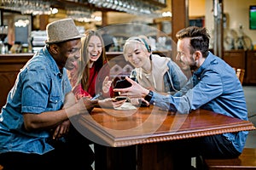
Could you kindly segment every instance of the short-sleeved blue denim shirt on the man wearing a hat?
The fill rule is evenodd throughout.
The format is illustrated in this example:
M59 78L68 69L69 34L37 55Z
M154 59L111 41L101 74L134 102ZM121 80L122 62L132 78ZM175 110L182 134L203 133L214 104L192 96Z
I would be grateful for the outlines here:
M22 114L61 110L65 94L71 89L66 69L61 74L47 48L42 48L20 70L15 85L9 92L7 103L3 106L0 153L19 151L41 155L53 150L47 144L49 132L27 132Z

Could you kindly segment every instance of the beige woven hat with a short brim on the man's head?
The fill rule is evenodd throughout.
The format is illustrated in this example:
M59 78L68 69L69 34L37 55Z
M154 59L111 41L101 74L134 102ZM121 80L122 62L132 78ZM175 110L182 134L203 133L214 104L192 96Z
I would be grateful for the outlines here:
M72 19L56 20L46 26L46 43L64 42L80 37L80 34Z

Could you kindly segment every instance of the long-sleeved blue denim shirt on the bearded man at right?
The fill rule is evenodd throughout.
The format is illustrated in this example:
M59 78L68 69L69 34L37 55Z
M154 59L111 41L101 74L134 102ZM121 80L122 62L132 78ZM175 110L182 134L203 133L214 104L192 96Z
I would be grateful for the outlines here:
M201 108L247 120L246 99L235 70L210 52L179 92L173 96L154 93L150 103L181 114ZM224 136L241 152L247 133L224 133Z

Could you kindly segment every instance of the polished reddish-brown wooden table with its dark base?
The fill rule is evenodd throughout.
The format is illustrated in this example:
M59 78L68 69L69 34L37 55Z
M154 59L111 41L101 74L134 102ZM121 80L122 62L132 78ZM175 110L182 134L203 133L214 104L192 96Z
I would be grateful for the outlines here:
M183 115L156 106L131 111L95 108L78 120L80 133L96 142L96 170L177 169L176 153L166 151L172 141L255 129L252 122L212 111Z

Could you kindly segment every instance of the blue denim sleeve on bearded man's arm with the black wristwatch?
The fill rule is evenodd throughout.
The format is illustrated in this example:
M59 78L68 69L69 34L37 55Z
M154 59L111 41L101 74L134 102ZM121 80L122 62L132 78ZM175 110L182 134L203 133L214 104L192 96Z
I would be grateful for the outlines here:
M154 93L150 103L154 103L154 105L164 110L187 114L223 93L223 83L219 73L216 71L207 71L201 78L194 77L193 83L194 88L183 88L188 91L183 92L182 96L164 96Z

